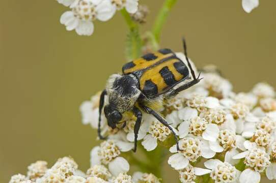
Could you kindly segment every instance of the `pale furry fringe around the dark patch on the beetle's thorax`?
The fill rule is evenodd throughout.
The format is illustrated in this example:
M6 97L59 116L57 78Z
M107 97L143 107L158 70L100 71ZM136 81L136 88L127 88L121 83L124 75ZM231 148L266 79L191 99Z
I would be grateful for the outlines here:
M122 95L123 91L118 88L113 87L113 83L115 82L116 79L119 79L123 77L120 74L113 74L111 75L106 84L106 90L107 90L107 95L109 97L109 102L113 102L117 105L117 110L121 113L124 113L125 111L130 111L132 110L135 102L139 98L141 91L137 87L133 87L135 89L135 95L132 96L125 96ZM136 78L133 77L133 79L136 80Z

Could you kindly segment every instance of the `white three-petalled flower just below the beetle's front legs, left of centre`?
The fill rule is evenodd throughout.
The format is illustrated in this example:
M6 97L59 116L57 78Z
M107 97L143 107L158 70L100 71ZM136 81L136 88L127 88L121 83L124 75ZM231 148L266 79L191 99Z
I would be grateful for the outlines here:
M96 146L91 150L91 166L100 165L101 163L106 164L109 171L116 176L121 172L127 172L129 164L124 158L119 157L119 155L121 151L129 151L132 148L133 143L130 142L104 141L100 146Z

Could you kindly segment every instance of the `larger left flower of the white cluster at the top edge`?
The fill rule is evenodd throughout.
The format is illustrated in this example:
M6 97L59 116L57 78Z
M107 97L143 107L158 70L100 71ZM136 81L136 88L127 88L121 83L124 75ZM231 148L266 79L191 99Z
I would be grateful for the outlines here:
M94 32L93 20L107 21L115 10L109 0L78 0L71 4L71 11L65 12L60 19L67 31L75 29L80 36L91 36Z

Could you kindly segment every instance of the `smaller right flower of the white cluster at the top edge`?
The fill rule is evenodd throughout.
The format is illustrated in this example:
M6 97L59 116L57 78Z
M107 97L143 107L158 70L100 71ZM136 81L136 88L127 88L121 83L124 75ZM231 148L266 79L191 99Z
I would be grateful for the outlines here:
M121 10L126 8L128 13L135 13L138 10L139 0L111 0L114 9Z

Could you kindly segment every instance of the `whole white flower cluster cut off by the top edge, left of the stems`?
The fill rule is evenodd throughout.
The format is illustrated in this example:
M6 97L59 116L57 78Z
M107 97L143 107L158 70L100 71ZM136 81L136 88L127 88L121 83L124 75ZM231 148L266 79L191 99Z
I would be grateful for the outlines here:
M60 22L67 31L75 29L78 35L91 36L94 32L94 20L107 21L116 10L126 9L135 13L139 0L57 0L71 9L62 14Z

